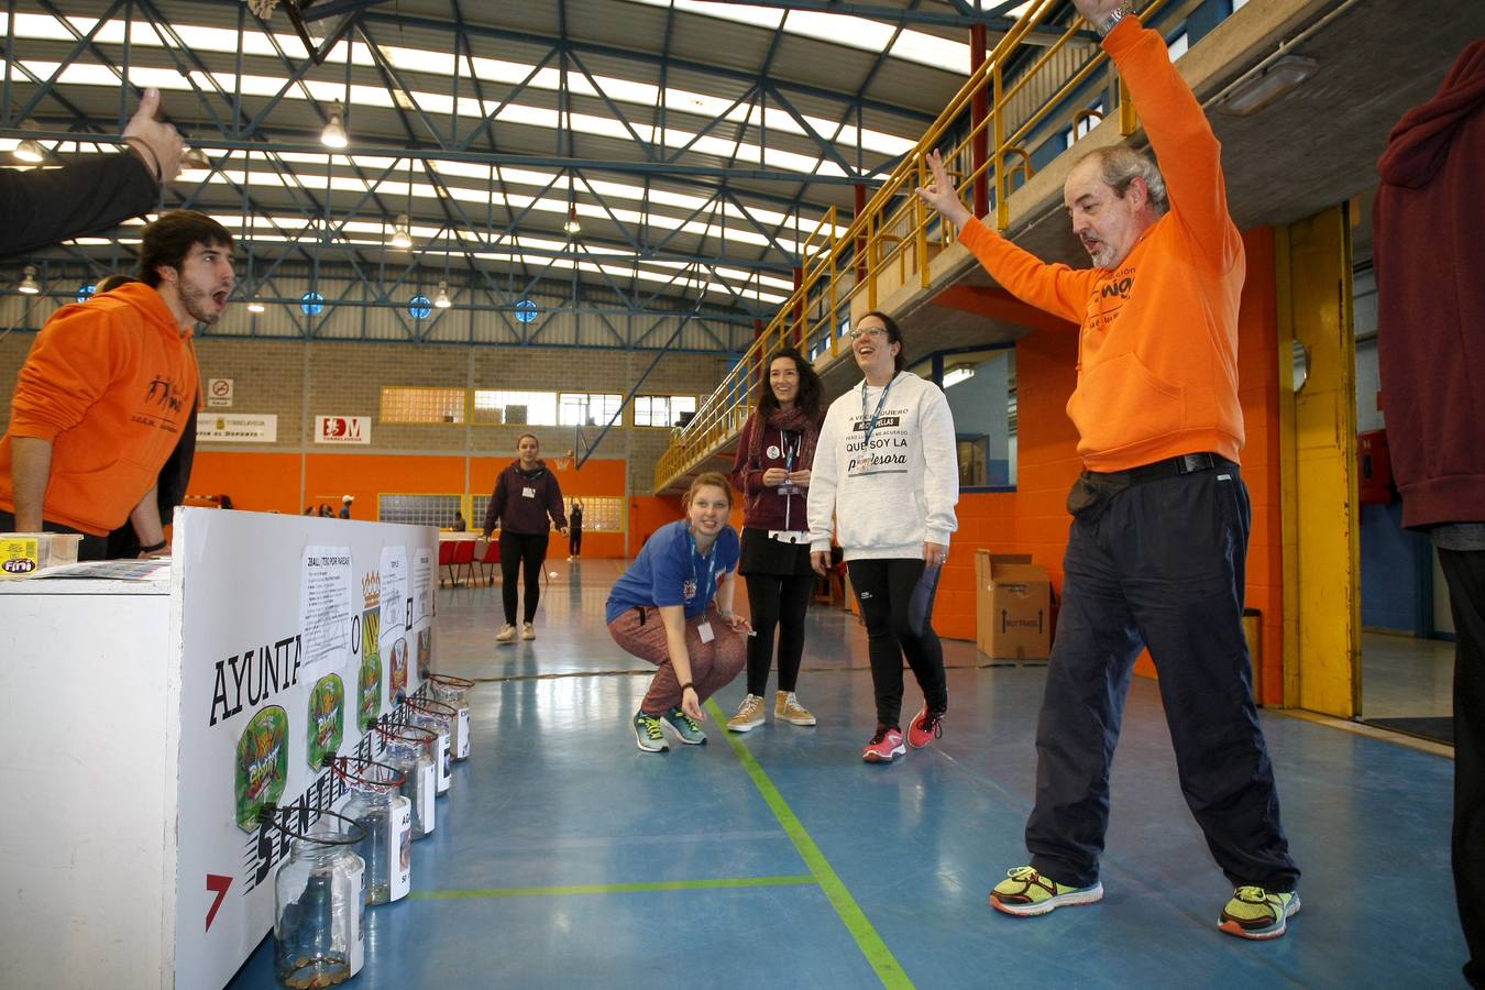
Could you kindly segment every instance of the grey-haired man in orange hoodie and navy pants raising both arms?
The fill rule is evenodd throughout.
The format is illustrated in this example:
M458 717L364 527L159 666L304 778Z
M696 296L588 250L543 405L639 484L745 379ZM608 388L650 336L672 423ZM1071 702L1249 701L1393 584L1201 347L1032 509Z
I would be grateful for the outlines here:
M1243 240L1227 211L1221 145L1164 39L1126 1L1074 4L1103 36L1164 166L1114 147L1072 168L1063 199L1096 267L1042 264L999 237L959 202L937 153L934 181L919 190L998 282L1081 328L1068 416L1084 472L1068 497L1031 864L1011 870L990 904L1031 916L1103 896L1109 764L1148 646L1181 790L1236 888L1218 926L1277 938L1299 910L1299 870L1279 821L1241 628L1252 515L1237 466Z

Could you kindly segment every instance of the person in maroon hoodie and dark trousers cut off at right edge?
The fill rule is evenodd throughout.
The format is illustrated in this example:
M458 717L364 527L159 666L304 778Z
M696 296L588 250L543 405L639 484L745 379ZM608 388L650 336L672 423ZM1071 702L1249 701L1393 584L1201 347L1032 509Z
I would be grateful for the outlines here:
M1454 614L1454 896L1485 987L1485 40L1393 128L1372 211L1377 358L1402 524L1439 551Z

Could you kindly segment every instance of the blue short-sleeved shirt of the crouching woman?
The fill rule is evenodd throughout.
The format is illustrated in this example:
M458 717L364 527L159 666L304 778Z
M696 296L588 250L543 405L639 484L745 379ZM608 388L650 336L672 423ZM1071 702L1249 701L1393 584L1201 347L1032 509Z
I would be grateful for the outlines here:
M711 552L701 555L693 549L686 525L686 519L677 519L655 530L630 568L613 582L607 622L627 609L685 606L688 619L705 612L707 603L717 594L717 582L732 573L742 551L737 530L725 525Z

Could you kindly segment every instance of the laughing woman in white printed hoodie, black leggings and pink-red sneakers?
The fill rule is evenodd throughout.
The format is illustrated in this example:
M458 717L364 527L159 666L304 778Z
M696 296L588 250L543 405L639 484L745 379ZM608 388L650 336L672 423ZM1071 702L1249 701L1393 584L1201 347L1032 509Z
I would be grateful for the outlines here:
M922 748L943 735L949 690L933 600L958 528L959 466L949 401L939 386L903 371L897 324L867 313L849 335L866 378L830 405L820 429L809 549L824 574L833 521L866 622L876 689L876 733L861 758L891 763L907 751L900 726L904 655L924 693L907 745Z

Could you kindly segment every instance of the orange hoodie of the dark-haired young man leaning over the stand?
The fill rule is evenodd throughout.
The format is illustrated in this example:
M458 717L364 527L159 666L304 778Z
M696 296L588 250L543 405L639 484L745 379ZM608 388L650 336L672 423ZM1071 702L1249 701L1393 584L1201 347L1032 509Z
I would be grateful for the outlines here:
M148 494L196 402L190 331L131 283L56 310L21 368L0 439L0 509L15 512L12 436L52 441L43 517L107 536Z

